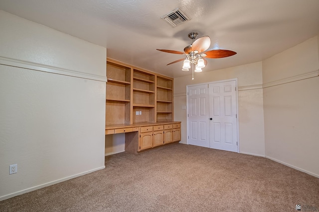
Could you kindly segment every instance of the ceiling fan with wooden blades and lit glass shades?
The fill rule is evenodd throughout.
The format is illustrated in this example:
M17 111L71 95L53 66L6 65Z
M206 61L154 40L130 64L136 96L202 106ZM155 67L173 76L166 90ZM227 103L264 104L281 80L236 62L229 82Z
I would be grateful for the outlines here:
M182 71L189 71L190 64L191 64L192 79L194 79L194 71L201 72L202 71L201 69L207 65L207 61L205 58L212 58L212 59L226 58L226 57L230 57L237 54L236 52L231 50L223 50L223 49L208 50L208 48L210 47L209 36L203 36L195 40L197 36L198 36L197 32L191 32L188 34L188 37L192 39L192 44L186 46L184 48L184 52L166 50L166 49L157 49L161 52L186 55L185 58L173 61L167 64L166 66L180 62L180 61L184 61ZM195 65L195 70L194 70L194 65Z

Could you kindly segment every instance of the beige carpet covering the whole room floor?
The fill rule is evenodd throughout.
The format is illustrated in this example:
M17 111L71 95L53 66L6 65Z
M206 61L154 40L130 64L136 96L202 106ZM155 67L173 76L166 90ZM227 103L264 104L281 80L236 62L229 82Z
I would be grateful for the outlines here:
M319 178L272 160L185 144L107 156L106 168L0 202L0 211L319 211Z

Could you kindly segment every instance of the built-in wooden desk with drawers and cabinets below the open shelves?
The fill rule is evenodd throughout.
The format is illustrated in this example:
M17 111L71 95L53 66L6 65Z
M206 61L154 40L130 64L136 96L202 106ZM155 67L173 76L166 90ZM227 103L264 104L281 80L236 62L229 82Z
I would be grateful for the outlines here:
M181 122L107 125L105 135L125 133L125 151L137 154L167 143L180 141Z

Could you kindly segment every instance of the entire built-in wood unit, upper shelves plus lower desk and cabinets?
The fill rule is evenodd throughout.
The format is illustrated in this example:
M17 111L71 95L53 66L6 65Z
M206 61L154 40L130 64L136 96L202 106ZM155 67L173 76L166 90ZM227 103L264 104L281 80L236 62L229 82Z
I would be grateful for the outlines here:
M106 75L105 135L125 133L125 151L133 153L180 141L173 78L110 58Z

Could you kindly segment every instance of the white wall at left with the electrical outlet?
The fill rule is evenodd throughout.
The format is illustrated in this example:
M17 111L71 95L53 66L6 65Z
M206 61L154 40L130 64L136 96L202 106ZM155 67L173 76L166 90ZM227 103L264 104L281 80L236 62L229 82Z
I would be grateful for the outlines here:
M104 168L106 49L1 10L0 29L0 201Z

